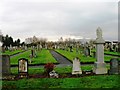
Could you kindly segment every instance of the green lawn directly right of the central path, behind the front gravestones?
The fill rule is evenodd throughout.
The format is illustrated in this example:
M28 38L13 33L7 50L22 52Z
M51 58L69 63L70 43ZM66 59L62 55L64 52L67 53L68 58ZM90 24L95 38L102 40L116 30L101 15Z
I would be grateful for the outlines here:
M71 61L75 57L78 57L79 59L81 59L81 62L95 62L96 61L96 59L94 57L86 57L83 54L77 54L75 51L73 51L73 52L69 52L66 50L56 50L56 51L59 52L60 54L62 54L63 56L67 57ZM104 56L104 60L110 61L110 59L113 57L114 56Z

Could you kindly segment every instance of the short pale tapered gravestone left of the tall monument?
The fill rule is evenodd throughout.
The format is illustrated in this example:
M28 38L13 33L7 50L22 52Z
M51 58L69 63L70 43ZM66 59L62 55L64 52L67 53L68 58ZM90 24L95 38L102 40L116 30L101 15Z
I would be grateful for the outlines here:
M80 67L80 61L78 58L75 58L73 60L73 69L72 74L82 74L81 67Z

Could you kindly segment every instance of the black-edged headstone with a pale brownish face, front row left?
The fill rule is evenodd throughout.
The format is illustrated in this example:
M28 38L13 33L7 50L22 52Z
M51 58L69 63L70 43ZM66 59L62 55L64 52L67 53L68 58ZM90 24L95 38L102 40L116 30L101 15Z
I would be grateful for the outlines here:
M18 72L20 77L28 76L28 59L20 58L18 60Z

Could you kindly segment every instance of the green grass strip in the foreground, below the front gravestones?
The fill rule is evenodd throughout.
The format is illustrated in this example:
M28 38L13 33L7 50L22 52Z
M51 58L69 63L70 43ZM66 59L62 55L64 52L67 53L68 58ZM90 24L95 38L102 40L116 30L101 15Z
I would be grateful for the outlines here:
M80 78L31 78L3 81L3 89L15 88L120 88L118 75L97 75Z

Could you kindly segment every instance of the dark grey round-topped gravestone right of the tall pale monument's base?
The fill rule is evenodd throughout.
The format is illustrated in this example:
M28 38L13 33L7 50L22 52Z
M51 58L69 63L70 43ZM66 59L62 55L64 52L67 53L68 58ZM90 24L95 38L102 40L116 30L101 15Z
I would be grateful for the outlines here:
M110 60L110 74L118 74L119 73L119 61L117 58L112 58Z

